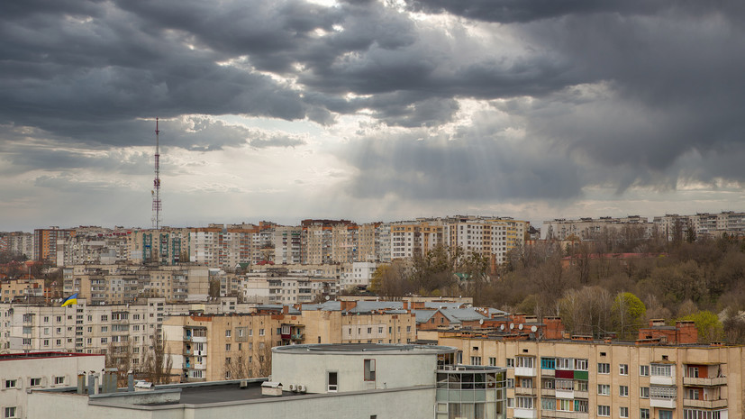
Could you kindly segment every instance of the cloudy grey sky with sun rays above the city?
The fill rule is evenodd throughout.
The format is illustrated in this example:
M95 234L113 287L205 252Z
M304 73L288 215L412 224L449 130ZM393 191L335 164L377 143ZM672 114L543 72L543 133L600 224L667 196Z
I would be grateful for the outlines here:
M745 2L6 0L0 231L745 211Z

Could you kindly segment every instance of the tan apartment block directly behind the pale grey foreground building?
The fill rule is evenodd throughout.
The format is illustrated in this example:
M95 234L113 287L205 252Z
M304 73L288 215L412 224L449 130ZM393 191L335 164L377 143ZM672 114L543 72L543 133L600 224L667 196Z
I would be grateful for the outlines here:
M259 306L252 314L184 314L163 323L164 345L181 381L268 375L270 349L302 343L410 343L407 311L348 311L352 305Z

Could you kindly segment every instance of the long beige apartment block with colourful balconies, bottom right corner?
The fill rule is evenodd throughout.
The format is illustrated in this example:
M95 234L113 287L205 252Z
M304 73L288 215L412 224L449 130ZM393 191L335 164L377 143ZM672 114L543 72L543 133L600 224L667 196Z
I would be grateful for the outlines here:
M510 418L743 417L743 347L654 342L439 339L464 363L507 367Z

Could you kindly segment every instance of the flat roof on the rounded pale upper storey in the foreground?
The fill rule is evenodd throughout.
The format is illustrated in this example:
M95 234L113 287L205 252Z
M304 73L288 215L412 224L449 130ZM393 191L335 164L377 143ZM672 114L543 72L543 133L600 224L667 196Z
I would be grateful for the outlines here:
M377 352L403 354L450 353L458 351L451 346L415 345L404 343L315 343L305 345L277 346L272 352L286 353L357 353Z

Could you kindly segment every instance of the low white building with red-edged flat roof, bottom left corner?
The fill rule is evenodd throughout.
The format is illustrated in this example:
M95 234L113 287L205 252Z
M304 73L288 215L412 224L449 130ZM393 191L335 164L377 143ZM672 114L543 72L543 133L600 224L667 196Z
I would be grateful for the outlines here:
M28 414L27 398L32 391L70 387L75 385L78 371L101 369L104 355L59 351L0 354L0 417L40 417Z

